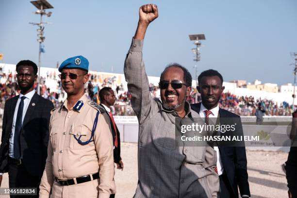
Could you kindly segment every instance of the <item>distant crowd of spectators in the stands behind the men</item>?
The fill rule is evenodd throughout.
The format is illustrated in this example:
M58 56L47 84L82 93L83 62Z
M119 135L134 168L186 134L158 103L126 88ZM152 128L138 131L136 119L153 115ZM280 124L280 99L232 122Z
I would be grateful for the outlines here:
M52 92L47 87L47 79L54 79L57 83L57 91ZM98 83L96 75L91 75L90 81L86 84L85 89L89 99L100 103L99 90L102 87L111 87L115 91L116 102L114 105L114 115L135 115L130 105L131 95L128 90L125 90L123 84L117 85L115 77L105 78L102 83ZM43 77L40 80L40 94L42 97L49 99L55 106L61 105L66 95L62 89L61 82L55 75ZM37 82L34 84L37 90ZM160 99L159 87L153 83L149 84L149 91L153 98ZM0 109L3 110L4 103L19 94L19 88L16 83L16 76L12 73L0 73ZM200 94L197 89L193 89L191 95L187 98L190 103L197 103L201 101ZM265 115L269 116L289 116L292 115L292 105L283 101L281 104L271 99L255 99L252 96L236 96L229 92L223 93L219 102L221 108L233 112L241 116L253 116L256 113L258 104L261 103ZM0 110L0 113L1 111Z

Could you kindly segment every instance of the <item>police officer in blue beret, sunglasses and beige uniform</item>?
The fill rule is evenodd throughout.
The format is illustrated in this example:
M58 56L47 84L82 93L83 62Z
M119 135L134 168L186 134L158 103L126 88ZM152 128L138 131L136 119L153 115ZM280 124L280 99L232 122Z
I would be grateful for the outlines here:
M109 198L115 194L113 138L104 109L84 93L89 62L68 58L59 67L64 103L51 111L40 198ZM104 114L103 114L104 113Z

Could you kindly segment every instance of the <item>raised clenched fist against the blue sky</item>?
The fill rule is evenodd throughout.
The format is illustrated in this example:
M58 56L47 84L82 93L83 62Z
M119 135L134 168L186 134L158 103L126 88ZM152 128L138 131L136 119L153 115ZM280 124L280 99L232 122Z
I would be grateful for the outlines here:
M149 24L158 17L158 7L155 4L143 5L139 8L139 22Z

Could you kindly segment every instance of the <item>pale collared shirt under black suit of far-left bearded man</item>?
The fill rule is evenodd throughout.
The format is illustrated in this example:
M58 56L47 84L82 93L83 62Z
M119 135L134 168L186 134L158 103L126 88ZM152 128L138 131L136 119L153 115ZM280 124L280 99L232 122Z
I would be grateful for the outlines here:
M22 123L24 121L27 109L29 107L30 101L33 97L33 95L35 94L35 90L30 91L29 93L23 95L23 94L19 94L19 98L17 99L16 102L16 109L15 109L15 114L14 114L14 119L13 119L13 125L12 125L12 129L11 129L11 135L10 135L10 139L9 139L9 157L14 158L14 142L15 142L15 129L16 129L16 116L17 116L17 111L18 111L18 106L19 103L21 101L21 97L26 97L24 99L24 107L23 107L23 115L22 115ZM21 157L22 158L22 157Z

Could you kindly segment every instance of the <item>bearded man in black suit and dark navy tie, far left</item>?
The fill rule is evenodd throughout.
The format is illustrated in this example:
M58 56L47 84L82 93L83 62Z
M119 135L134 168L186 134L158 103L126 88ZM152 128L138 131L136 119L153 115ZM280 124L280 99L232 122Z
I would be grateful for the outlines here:
M38 197L45 168L53 109L51 101L35 93L37 70L30 60L16 65L21 92L5 103L0 146L0 181L2 174L8 172L9 187L37 188L37 195L33 197Z

